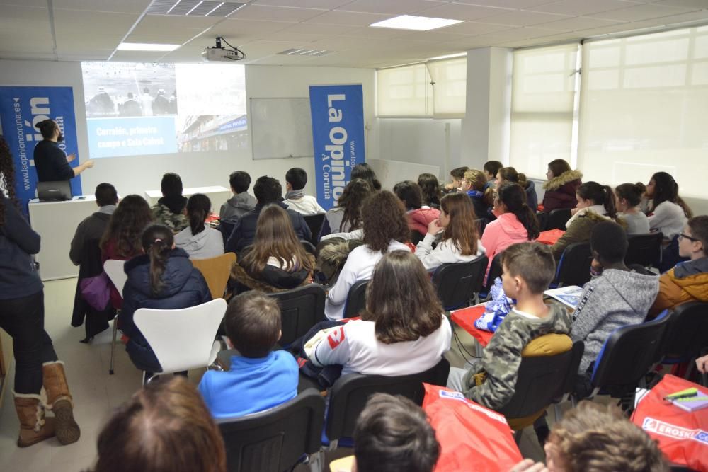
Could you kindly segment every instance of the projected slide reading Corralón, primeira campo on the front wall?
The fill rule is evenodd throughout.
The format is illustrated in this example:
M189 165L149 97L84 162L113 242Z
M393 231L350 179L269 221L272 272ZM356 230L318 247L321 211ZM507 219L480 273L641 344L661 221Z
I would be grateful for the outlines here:
M82 62L91 159L247 146L238 64Z

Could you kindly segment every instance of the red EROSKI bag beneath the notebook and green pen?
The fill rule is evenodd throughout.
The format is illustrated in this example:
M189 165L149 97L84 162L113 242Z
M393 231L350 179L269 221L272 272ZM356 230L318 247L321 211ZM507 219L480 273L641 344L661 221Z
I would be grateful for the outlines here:
M673 464L708 472L708 408L689 413L663 398L696 387L706 388L666 374L637 405L632 422L659 442Z

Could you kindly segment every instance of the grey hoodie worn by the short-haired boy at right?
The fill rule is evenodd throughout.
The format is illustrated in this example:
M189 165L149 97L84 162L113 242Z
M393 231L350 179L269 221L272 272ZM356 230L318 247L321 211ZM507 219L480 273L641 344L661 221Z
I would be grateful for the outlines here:
M583 287L573 311L571 338L583 341L585 351L578 374L584 374L598 358L612 331L641 323L659 290L658 275L608 269Z

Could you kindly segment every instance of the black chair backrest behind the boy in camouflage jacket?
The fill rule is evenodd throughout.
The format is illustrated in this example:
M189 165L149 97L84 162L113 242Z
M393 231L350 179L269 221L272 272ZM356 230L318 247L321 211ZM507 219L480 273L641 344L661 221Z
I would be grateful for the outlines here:
M547 336L567 338L564 350L552 355L527 355L522 352L514 395L498 411L507 418L525 418L547 408L554 398L570 391L583 357L583 342L572 343L566 335L546 335L532 340L543 342ZM529 343L529 344L531 344Z

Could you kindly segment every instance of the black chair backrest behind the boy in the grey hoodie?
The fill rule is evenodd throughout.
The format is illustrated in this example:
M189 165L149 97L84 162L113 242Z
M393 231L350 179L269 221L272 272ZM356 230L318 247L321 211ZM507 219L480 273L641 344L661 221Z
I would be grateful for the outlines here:
M658 318L612 331L593 370L593 386L610 388L611 393L634 391L639 379L656 361L657 351L670 316L664 311Z

